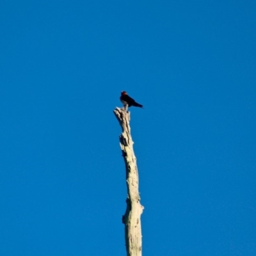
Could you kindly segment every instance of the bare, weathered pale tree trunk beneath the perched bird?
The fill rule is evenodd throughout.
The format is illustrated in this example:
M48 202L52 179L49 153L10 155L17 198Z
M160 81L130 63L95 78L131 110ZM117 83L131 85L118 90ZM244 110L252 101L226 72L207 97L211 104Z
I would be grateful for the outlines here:
M136 157L133 151L130 113L124 109L115 108L115 116L122 127L120 146L125 161L127 182L127 208L122 221L125 225L125 246L127 256L141 256L141 221L140 216L144 207L140 204L139 177Z

